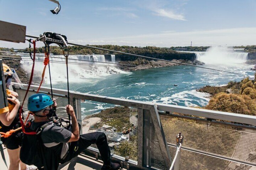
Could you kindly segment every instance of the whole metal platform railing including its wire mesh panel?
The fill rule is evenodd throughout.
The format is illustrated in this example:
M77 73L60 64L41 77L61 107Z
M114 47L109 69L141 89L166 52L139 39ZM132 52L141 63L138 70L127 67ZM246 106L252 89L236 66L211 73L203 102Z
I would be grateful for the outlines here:
M14 89L20 100L26 88L27 85L24 89ZM30 93L35 93L37 88L30 86ZM50 88L41 87L40 92L50 94ZM61 99L58 102L67 100L66 90L53 88L53 94ZM256 116L70 91L70 104L80 124L81 100L137 108L137 161L112 155L112 159L127 169L169 169L176 149L180 149L180 155L174 169L177 166L184 170L256 168ZM184 135L181 148L176 142L180 131ZM93 147L85 153L99 156L98 149Z

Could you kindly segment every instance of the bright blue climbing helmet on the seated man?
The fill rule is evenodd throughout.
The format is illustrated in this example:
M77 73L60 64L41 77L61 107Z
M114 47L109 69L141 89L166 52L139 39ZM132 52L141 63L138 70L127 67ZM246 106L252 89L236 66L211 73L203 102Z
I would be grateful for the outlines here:
M53 104L50 96L43 93L33 94L28 98L27 109L31 112L38 112Z

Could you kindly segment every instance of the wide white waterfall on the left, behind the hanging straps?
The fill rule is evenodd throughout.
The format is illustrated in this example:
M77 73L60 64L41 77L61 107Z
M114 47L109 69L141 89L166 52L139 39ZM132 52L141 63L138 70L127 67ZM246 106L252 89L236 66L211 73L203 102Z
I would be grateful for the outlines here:
M53 58L54 57L54 58ZM31 72L32 62L30 57L21 55L21 66L27 72ZM36 60L44 60L44 56L36 57ZM105 63L104 55L69 55L69 80L70 82L82 82L84 79L99 78L113 73L125 73L114 64ZM51 62L52 61L52 62ZM63 63L60 63L60 62ZM50 55L50 69L53 83L66 81L66 63L63 55ZM103 63L102 63L103 62ZM111 62L115 62L115 55L111 55ZM86 63L87 65L83 65ZM95 65L94 65L95 64ZM43 72L43 62L36 61L34 76L40 77ZM45 73L45 82L49 82L48 68Z

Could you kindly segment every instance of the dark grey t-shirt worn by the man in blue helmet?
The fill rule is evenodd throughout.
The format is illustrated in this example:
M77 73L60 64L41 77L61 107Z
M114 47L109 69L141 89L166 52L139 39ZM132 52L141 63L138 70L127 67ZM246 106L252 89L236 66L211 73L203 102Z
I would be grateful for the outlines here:
M37 130L38 127L44 125L47 122L32 122L31 124L31 129L32 130ZM49 122L49 125L47 125L43 131L41 132L41 138L43 141L44 146L46 147L55 147L59 145L60 143L62 144L62 151L60 158L63 159L66 153L69 150L69 139L71 138L71 131L62 128L60 126L51 124Z

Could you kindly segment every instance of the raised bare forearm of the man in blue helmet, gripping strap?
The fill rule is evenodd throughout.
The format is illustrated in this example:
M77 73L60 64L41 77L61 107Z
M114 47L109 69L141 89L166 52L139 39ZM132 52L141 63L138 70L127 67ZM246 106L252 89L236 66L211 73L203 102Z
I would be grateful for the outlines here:
M78 141L80 137L78 122L75 117L75 111L71 105L66 106L67 113L71 116L72 119L72 134L68 142Z

